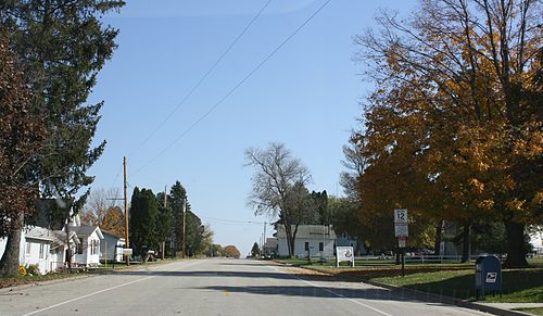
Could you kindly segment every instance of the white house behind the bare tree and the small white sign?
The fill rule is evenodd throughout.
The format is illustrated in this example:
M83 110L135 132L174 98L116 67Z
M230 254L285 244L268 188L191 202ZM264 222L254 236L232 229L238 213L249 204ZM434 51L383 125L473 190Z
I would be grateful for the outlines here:
M292 225L292 232L294 232ZM288 256L289 248L287 243L287 233L282 225L277 225L277 254ZM333 255L336 243L336 232L329 226L323 225L300 225L294 238L294 256L330 257Z

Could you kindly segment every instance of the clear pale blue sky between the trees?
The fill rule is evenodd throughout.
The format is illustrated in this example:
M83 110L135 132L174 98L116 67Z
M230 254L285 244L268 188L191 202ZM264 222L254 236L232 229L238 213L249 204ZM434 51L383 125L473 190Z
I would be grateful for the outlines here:
M327 1L268 1L132 0L103 17L119 35L88 100L104 101L94 142L108 142L89 172L92 189L122 194L126 156L129 195L179 180L215 243L242 255L274 220L247 205L254 170L245 149L282 142L310 169L310 191L342 194L342 147L371 87L353 61L353 36L376 27L379 10L408 14L416 3L332 0L280 46Z

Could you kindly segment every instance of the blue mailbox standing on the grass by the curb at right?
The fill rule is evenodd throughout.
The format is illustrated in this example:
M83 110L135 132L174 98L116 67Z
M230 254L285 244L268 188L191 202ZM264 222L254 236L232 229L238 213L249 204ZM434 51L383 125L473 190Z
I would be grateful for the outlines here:
M476 296L502 292L502 264L495 255L481 255L476 261Z

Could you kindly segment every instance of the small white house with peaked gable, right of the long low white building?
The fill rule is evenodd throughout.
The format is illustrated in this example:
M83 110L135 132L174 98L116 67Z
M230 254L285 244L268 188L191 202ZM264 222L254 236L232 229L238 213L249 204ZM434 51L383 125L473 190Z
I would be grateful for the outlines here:
M100 228L96 226L71 226L70 229L79 239L72 265L98 266L100 264L100 242L104 239Z

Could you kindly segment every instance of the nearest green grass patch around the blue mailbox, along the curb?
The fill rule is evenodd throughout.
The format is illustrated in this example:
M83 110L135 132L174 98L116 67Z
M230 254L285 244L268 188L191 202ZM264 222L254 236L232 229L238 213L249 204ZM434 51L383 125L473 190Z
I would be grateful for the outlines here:
M475 300L473 270L417 273L405 277L376 277L376 281L463 300ZM543 268L503 271L503 295L487 302L543 303Z

